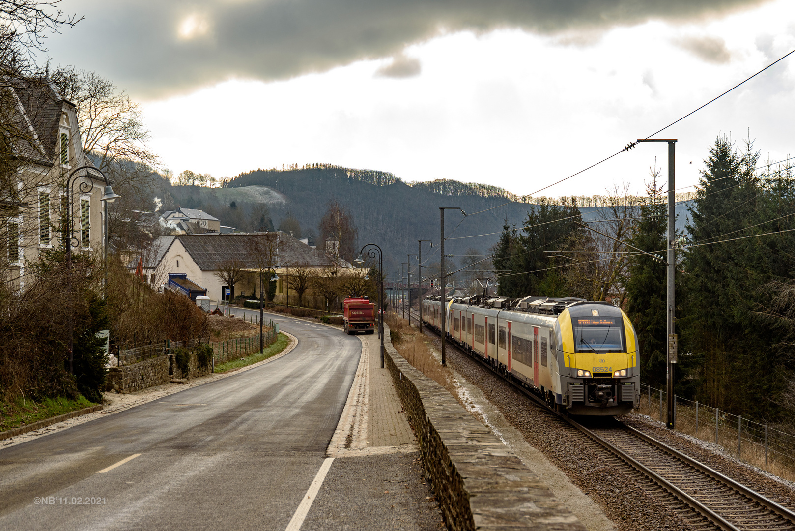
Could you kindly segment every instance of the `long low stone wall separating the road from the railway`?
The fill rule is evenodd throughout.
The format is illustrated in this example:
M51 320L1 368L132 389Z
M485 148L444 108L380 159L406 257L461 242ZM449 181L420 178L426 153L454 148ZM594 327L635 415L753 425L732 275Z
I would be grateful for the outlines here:
M447 389L409 365L384 328L384 363L449 529L586 529Z

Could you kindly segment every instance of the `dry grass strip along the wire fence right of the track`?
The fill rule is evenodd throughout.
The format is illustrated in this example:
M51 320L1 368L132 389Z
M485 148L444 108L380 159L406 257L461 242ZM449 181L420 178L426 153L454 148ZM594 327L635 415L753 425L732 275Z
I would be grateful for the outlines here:
M651 408L648 401L641 400L641 407L636 409L635 412L642 415L648 415L654 420L659 420L665 423L665 403L663 403L662 416L660 415L660 404L652 398ZM700 421L698 424L698 432L696 433L696 414L693 408L687 408L681 405L677 406L677 431L686 433L701 439L708 443L715 443L715 416L706 416L703 413L699 414ZM775 454L768 451L767 465L765 464L765 447L763 444L754 443L745 438L743 430L743 443L741 445L741 453L737 453L737 431L728 430L723 426L718 430L718 444L723 447L731 455L738 457L741 461L749 463L754 467L760 468L770 472L770 474L777 475L779 478L784 478L788 481L795 481L795 463L785 456Z

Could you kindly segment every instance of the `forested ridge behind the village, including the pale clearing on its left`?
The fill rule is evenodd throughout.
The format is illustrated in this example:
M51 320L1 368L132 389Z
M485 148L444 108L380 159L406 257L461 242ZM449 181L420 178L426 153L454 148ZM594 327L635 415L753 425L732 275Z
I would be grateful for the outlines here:
M541 187L541 181L538 184ZM446 243L445 254L459 256L467 249L487 255L505 221L521 226L531 208L528 203L511 202L519 198L492 185L449 179L406 183L388 172L325 164L254 170L225 182L223 188L172 186L164 180L164 189L158 193L161 197L173 197L173 202L165 202L166 209L176 206L204 209L218 217L223 225L243 230L254 230L252 227L263 225L261 221L266 221L264 226L268 226L268 217L273 227L279 228L292 214L301 225L301 236L319 236L320 219L328 202L335 199L350 209L359 228L359 247L374 243L383 248L385 269L390 278L401 262L405 262L407 253L417 252L417 240L434 243L432 249L428 244L423 245L424 255L433 253L428 264L439 260L440 206L460 207L471 214L463 218L456 210L446 211L446 233L452 239ZM588 204L590 199L584 197L578 202ZM235 208L231 209L230 205ZM483 210L487 211L481 212ZM585 221L594 217L595 207L586 206L580 210ZM679 225L682 225L684 205L679 205L677 213ZM484 236L456 239L474 235ZM460 259L454 261L461 264Z

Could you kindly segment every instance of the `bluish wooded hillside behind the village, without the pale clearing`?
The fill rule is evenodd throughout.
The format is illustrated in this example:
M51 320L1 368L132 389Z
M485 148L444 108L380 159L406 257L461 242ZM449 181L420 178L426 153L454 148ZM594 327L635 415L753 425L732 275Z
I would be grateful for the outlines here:
M239 175L226 186L230 189L267 186L284 194L285 203L270 205L275 225L278 225L277 219L289 211L301 221L301 228L308 229L317 227L328 201L336 199L353 214L359 228L359 246L368 243L380 245L385 259L387 255L394 259L393 269L406 260L406 253L417 252L417 240L432 240L435 244L433 251L425 244L428 251L424 253L436 252L440 206L460 207L466 213L475 213L516 199L506 190L490 185L451 180L409 185L386 172L326 165L295 170L254 170ZM498 233L505 219L511 224L521 225L528 209L527 204L510 203L468 217L452 237ZM449 235L462 216L455 210L448 210L445 219ZM445 253L461 255L467 248L477 248L486 254L497 237L498 234L493 234L449 240Z

